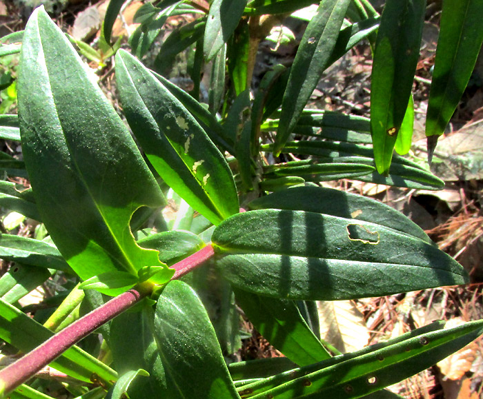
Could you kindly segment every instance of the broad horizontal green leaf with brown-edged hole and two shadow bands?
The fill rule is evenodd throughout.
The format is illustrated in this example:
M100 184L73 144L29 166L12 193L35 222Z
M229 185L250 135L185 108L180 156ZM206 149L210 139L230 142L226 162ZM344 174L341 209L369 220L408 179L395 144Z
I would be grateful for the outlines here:
M230 283L276 298L353 299L467 280L451 256L419 238L315 212L237 214L215 229L212 242Z

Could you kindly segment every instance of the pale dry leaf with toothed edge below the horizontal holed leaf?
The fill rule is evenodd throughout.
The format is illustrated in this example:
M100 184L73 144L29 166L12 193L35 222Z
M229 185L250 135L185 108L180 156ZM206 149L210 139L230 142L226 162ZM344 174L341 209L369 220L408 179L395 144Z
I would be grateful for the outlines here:
M353 300L319 301L317 307L323 340L343 353L367 345L369 332Z

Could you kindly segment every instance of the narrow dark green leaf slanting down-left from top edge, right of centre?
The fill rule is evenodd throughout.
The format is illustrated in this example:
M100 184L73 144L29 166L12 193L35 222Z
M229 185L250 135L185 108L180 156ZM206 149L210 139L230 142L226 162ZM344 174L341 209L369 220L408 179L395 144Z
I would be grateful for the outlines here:
M350 0L322 1L317 14L308 23L295 55L282 101L280 123L275 138L276 155L282 151L328 66L349 2Z

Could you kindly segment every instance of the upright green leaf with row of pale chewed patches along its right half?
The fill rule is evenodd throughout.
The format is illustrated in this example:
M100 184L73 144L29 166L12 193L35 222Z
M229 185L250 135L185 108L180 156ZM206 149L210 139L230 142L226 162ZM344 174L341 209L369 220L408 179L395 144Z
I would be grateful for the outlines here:
M215 225L237 213L233 175L206 132L137 59L116 57L126 119L159 176Z

